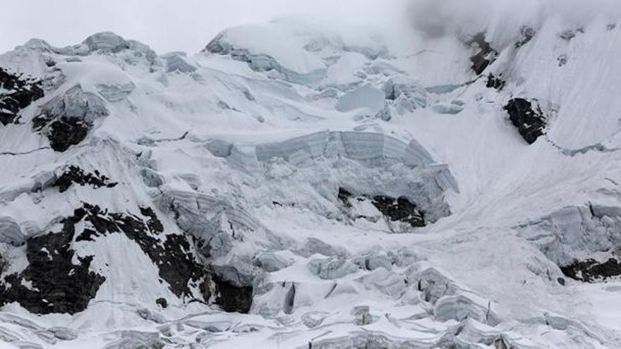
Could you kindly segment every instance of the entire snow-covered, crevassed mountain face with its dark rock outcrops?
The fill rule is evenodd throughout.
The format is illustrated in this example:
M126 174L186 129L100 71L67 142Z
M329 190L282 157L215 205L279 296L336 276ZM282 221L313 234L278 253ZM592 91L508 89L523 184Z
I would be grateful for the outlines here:
M614 24L30 40L0 56L0 341L618 347Z

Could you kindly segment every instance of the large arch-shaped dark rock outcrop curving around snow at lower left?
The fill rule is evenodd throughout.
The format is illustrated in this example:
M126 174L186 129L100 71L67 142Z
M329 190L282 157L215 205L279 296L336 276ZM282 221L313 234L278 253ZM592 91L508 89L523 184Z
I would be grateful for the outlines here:
M92 228L76 231L80 222ZM169 284L179 298L191 297L198 288L207 302L212 294L212 271L198 263L193 246L185 235L164 234L164 226L150 207L140 208L140 215L111 213L97 205L84 203L72 216L62 221L59 233L30 238L26 254L28 267L19 274L5 277L0 283L0 305L19 302L36 314L85 310L105 278L90 271L93 256L77 257L73 244L94 241L102 235L123 233L136 243L159 269L159 277ZM75 238L75 241L74 241ZM249 291L248 291L249 290ZM215 282L216 302L227 311L246 312L252 303L252 287L237 287L226 281ZM156 300L162 307L164 299Z

